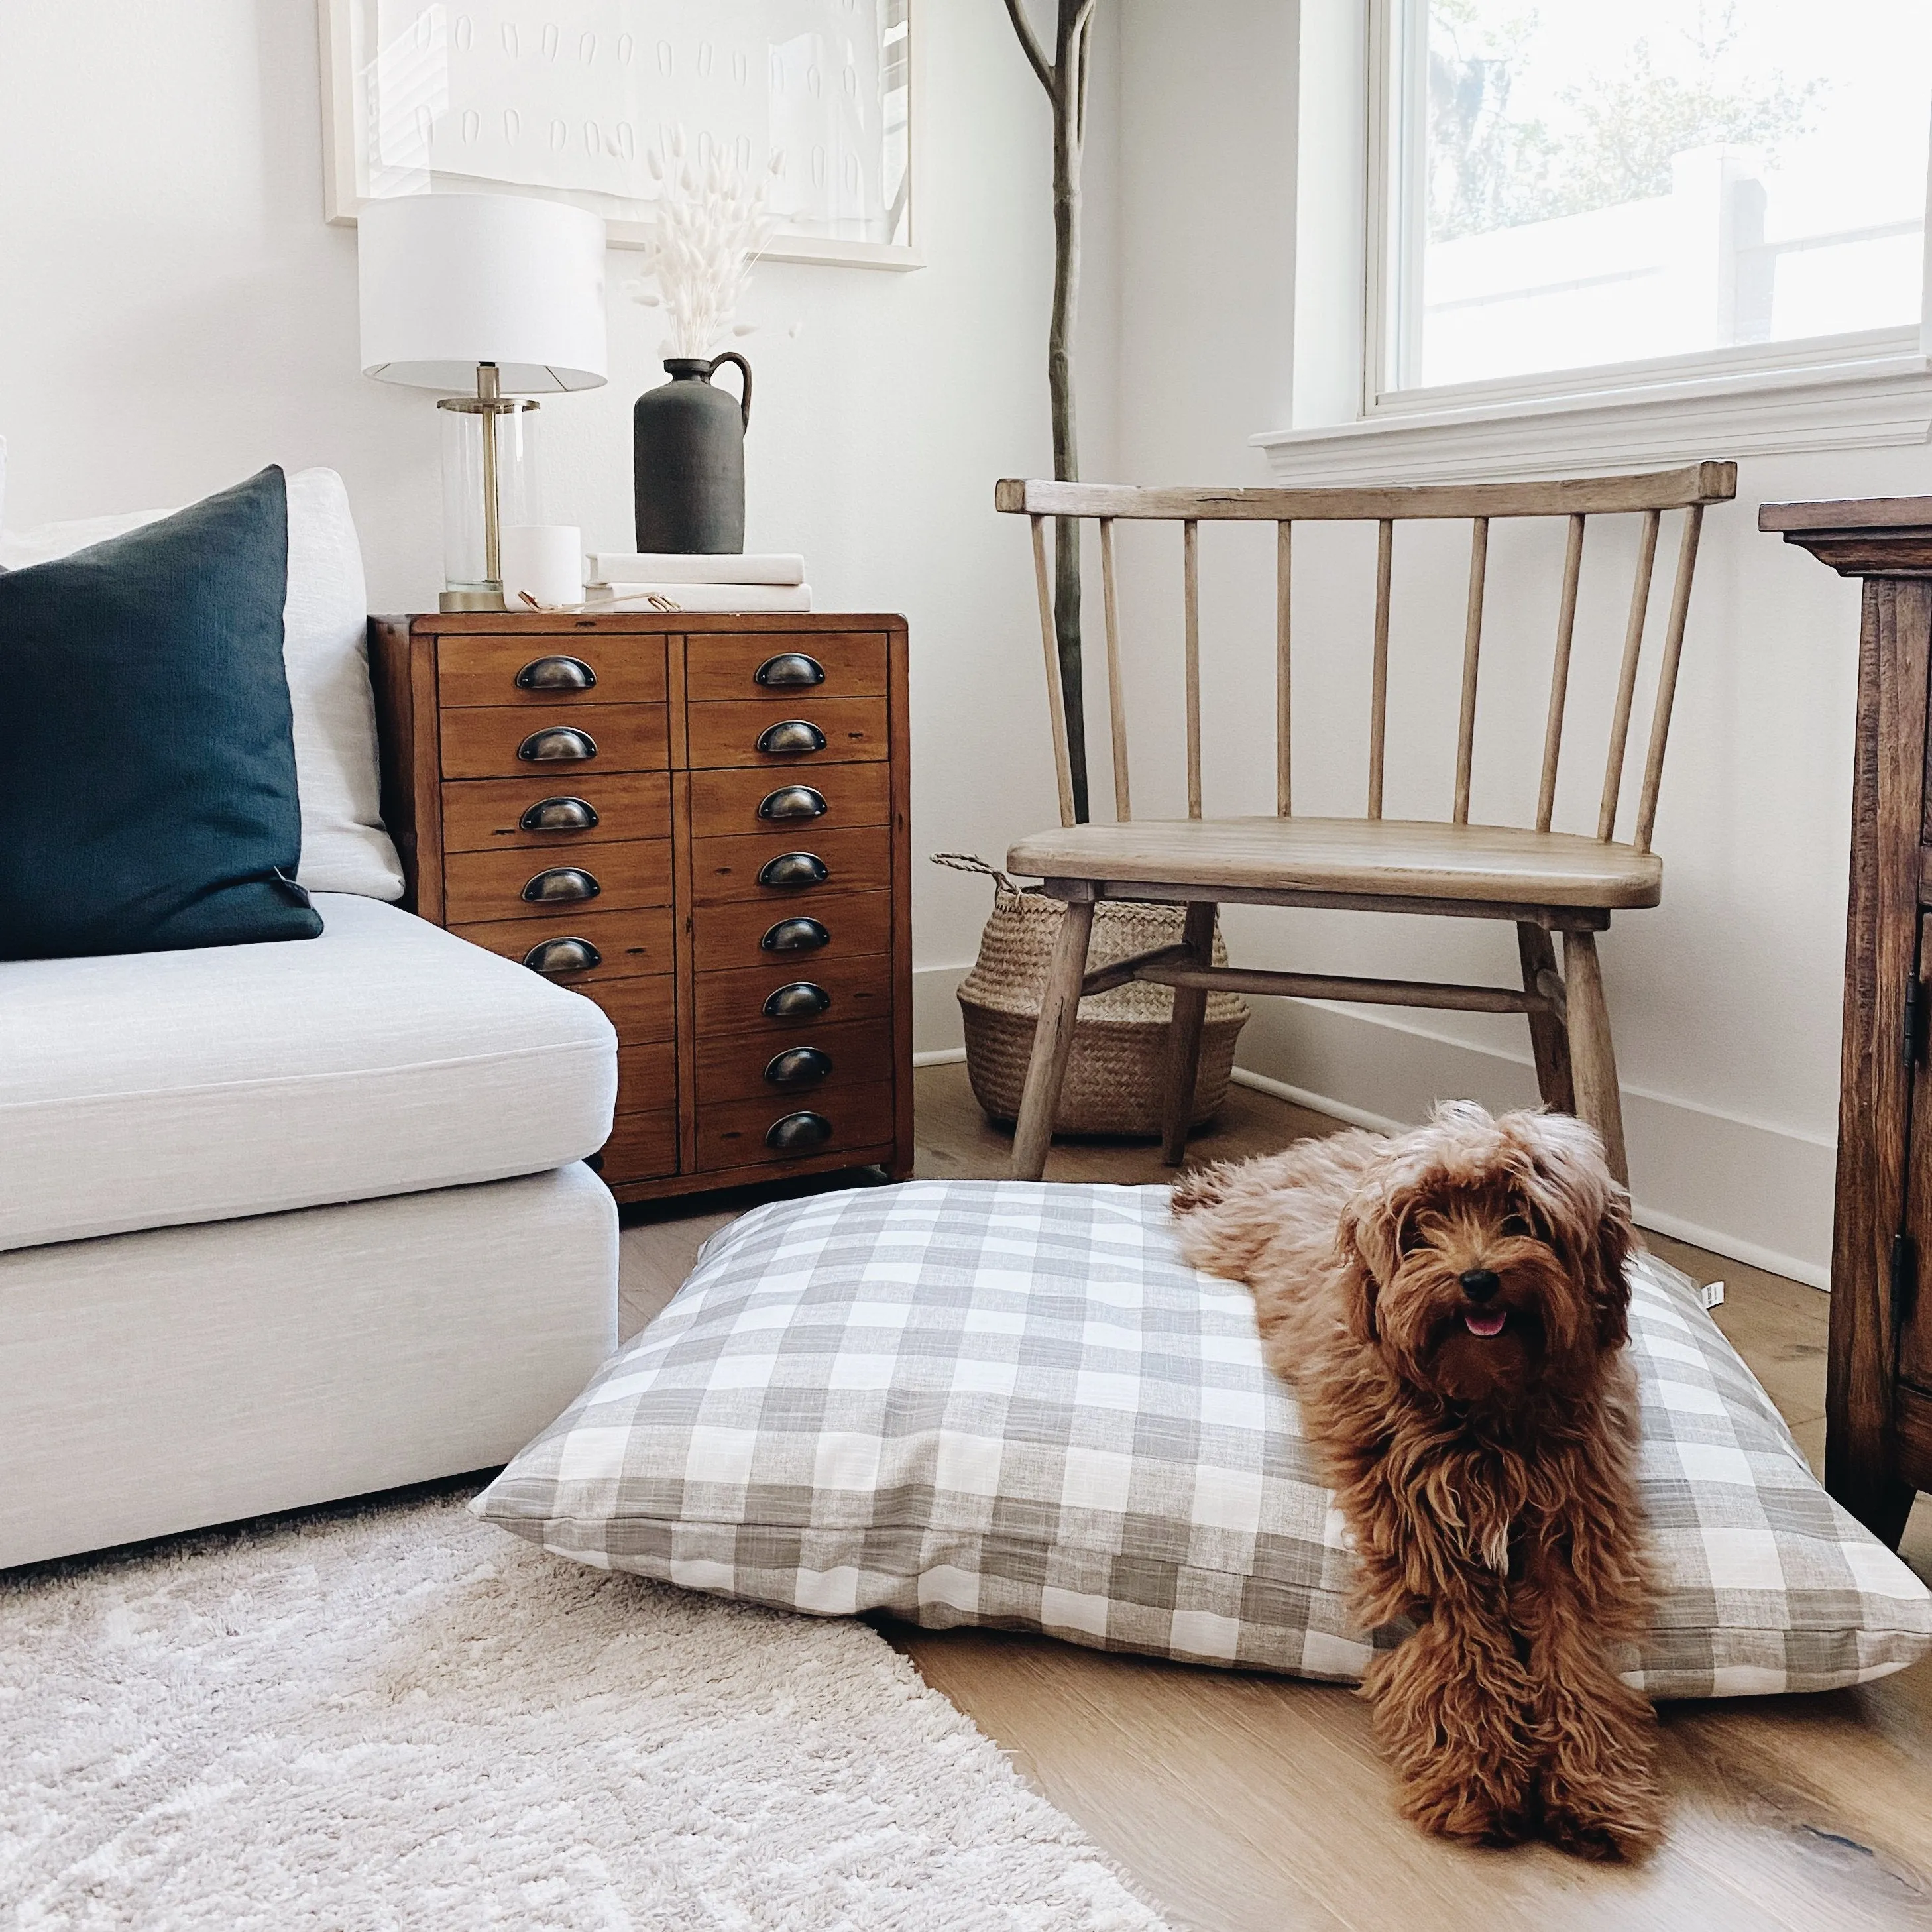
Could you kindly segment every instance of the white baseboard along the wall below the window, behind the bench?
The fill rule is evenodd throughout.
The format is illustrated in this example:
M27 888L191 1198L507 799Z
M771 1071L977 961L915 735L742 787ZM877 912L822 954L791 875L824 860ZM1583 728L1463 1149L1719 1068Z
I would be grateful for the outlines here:
M1356 1126L1412 1124L1449 1095L1536 1103L1528 1055L1304 1001L1258 1005L1240 1055L1244 1086ZM1830 1287L1833 1142L1631 1086L1623 1122L1640 1227Z

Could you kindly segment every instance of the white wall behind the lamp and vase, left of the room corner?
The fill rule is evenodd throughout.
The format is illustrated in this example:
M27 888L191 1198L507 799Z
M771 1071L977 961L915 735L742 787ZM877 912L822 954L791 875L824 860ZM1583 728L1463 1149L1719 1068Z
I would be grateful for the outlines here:
M1049 126L993 0L925 0L916 60L929 267L753 274L748 543L802 549L819 609L906 612L914 850L997 854L1053 811L1024 524L991 508L995 477L1049 460ZM437 417L425 392L357 375L355 236L323 222L313 6L0 6L0 182L8 526L330 464L371 601L429 605ZM636 261L611 253L609 388L545 404L549 516L607 549L630 541L630 406L663 381L661 321L622 292ZM1105 440L1105 259L1090 286ZM970 881L922 867L918 964L968 958L983 912ZM939 1043L951 983L922 978Z

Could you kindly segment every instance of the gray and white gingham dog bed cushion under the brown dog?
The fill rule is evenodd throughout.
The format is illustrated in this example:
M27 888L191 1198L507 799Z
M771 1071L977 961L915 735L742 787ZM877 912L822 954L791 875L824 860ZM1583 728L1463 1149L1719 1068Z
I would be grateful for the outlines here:
M1932 1646L1675 1271L1633 1264L1652 1696L1824 1690ZM927 1180L757 1208L471 1505L558 1555L821 1615L1356 1679L1350 1555L1246 1289L1165 1188Z

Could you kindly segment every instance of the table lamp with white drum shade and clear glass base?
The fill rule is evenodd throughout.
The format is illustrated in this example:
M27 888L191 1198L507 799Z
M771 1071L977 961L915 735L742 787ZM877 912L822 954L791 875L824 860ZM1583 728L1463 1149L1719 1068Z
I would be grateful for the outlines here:
M605 381L605 224L526 195L404 195L357 216L361 371L446 394L444 611L502 609L504 524L541 524L527 400Z

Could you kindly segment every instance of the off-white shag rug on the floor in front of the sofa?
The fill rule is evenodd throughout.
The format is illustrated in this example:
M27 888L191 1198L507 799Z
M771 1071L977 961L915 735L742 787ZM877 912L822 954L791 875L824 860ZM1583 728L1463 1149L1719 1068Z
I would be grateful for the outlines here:
M866 1625L464 1501L0 1578L0 1924L1161 1932Z

